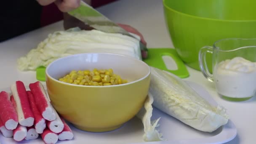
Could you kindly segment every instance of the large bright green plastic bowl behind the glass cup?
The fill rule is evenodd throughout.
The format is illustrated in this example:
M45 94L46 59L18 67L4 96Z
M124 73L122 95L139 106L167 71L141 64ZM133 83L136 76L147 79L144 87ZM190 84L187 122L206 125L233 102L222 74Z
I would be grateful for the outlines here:
M163 0L163 7L173 45L194 69L200 70L203 46L224 38L256 38L256 0ZM211 59L206 55L209 69Z

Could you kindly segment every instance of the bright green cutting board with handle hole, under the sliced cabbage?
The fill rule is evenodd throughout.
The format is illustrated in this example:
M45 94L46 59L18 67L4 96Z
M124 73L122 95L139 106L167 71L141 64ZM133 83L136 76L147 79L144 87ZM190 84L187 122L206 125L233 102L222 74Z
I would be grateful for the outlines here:
M176 70L170 70L166 67L166 64L163 60L163 56L170 56L176 63ZM189 72L184 62L179 58L179 55L173 48L148 48L148 57L143 59L151 67L156 67L168 72L173 73L181 78L189 77ZM36 78L40 81L45 81L45 67L37 67L36 69Z

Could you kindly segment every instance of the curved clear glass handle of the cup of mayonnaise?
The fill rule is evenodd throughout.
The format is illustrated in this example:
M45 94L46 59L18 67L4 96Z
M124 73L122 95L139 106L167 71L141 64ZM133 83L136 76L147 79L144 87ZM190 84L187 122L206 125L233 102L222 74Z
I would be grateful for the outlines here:
M206 64L206 56L207 53L213 53L213 47L211 46L204 46L200 49L198 59L200 64L200 70L203 72L203 75L211 82L213 82L213 75L209 72L209 69Z

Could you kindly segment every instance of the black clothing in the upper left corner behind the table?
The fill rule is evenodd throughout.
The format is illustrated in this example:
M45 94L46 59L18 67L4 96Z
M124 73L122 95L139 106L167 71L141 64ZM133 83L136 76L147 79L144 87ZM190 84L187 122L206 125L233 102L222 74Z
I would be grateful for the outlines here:
M3 0L0 42L40 27L42 6L36 0Z

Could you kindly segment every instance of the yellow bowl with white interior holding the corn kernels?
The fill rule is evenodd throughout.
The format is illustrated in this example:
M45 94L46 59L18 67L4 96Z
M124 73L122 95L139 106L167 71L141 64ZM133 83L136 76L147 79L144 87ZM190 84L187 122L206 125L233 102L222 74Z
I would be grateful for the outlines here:
M128 83L109 86L74 85L59 81L72 70L109 69ZM130 56L82 53L57 59L46 68L46 86L53 107L84 131L119 128L144 104L150 83L150 67Z

